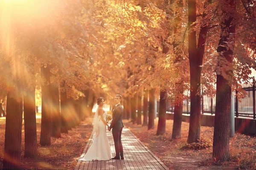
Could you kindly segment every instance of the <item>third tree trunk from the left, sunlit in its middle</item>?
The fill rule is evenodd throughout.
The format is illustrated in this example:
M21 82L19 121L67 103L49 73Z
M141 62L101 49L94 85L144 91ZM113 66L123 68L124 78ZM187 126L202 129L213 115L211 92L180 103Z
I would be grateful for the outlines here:
M50 93L50 75L49 67L41 67L41 77L46 79L46 82L42 85L41 146L51 145L52 96Z

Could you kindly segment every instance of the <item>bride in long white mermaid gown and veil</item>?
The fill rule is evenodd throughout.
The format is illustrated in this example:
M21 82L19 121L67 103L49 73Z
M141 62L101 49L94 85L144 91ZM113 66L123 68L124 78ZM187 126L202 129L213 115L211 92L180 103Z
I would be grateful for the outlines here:
M93 143L84 157L79 159L80 161L101 161L111 159L111 149L106 133L106 126L108 126L105 121L107 112L103 110L104 102L105 99L103 97L97 99L99 107L93 118Z

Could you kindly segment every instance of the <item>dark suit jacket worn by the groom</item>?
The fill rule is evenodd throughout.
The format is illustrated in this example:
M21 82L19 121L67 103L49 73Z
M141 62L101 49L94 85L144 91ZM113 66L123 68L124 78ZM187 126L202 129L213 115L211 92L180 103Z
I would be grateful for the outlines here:
M119 128L119 127L124 127L122 123L122 114L123 114L123 108L121 104L117 105L114 110L113 110L113 115L112 115L112 122L110 125L110 128Z

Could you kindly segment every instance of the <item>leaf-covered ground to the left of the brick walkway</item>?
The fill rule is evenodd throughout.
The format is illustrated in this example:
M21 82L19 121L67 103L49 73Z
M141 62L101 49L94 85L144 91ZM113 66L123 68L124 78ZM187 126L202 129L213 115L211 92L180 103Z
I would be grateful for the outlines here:
M38 158L24 158L24 121L22 126L22 156L21 166L26 169L68 169L72 170L84 150L92 132L92 118L87 118L81 124L69 130L68 134L61 133L60 139L52 138L52 145L41 147L41 115L37 114ZM0 168L3 165L5 118L0 118Z

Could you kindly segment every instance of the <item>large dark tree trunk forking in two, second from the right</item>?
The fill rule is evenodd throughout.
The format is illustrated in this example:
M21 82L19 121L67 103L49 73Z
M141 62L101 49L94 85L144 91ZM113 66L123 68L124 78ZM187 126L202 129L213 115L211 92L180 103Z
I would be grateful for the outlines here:
M209 22L207 21L207 10L208 5L212 0L207 0L204 3L204 12L202 16L202 24L200 26L200 32L198 37L197 49L195 51L195 36L196 31L194 30L193 23L196 20L196 6L194 1L189 1L189 68L190 68L190 120L189 122L189 136L187 139L188 143L198 142L200 139L200 115L201 115L201 70L204 58L204 48L207 39L207 32ZM193 31L194 30L194 31Z

